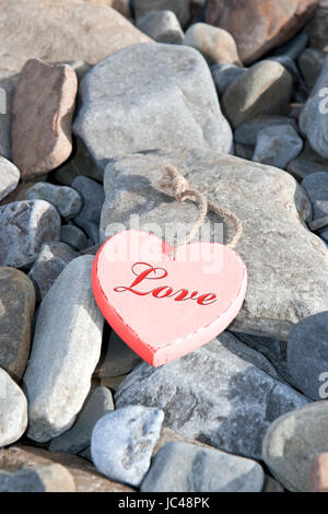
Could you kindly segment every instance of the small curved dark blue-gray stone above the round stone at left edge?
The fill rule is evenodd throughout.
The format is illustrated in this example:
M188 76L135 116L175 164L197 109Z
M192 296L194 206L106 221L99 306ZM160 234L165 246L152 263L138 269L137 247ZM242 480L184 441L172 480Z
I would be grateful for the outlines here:
M26 200L46 200L58 210L66 220L75 218L82 208L82 198L79 192L67 186L54 186L46 182L34 184L26 191Z

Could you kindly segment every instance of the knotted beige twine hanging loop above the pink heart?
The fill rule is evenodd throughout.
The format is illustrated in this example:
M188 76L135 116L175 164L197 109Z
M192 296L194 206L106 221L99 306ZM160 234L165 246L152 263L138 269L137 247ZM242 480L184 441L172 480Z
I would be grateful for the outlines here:
M232 241L226 244L226 246L230 248L236 247L243 234L243 223L233 212L231 212L229 209L216 206L216 203L213 203L210 200L207 200L207 198L201 192L195 189L190 189L188 180L172 165L165 166L165 172L160 183L160 187L166 194L173 196L177 201L185 201L187 199L192 200L198 205L199 208L199 214L196 223L192 225L189 234L187 234L186 237L177 244L176 248L180 245L186 245L190 243L191 240L194 240L206 219L208 210L215 212L221 218L233 222L235 226L235 235Z

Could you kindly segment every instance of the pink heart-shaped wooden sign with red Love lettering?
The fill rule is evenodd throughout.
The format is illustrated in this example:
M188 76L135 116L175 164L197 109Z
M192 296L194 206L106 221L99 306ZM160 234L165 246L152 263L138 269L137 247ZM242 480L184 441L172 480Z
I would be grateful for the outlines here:
M211 341L239 312L247 273L216 243L174 248L153 234L125 231L98 250L95 300L112 328L144 361L160 366Z

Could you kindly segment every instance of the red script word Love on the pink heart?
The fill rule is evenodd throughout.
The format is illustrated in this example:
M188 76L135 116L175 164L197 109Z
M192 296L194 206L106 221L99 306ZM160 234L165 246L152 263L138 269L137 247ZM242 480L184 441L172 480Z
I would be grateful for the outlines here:
M216 294L204 293L199 294L198 291L189 293L188 289L179 289L174 291L169 285L160 285L149 291L140 290L140 287L144 285L148 280L163 280L168 276L168 272L164 268L154 268L148 262L134 262L131 271L137 278L130 285L119 285L114 288L117 293L124 293L129 291L130 293L137 294L138 296L147 296L151 294L155 299L173 299L175 302L185 302L186 300L194 300L198 305L211 305L216 302ZM139 289L138 289L139 288Z

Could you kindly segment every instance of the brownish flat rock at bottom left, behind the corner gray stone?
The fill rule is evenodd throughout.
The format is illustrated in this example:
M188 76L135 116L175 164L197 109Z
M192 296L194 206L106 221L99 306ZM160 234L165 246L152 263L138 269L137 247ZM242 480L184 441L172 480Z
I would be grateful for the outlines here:
M132 492L131 488L115 483L97 472L87 460L75 455L48 452L33 446L11 446L0 451L0 470L16 471L61 464L72 475L77 492Z

